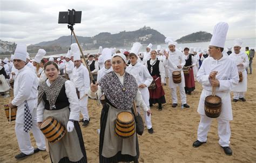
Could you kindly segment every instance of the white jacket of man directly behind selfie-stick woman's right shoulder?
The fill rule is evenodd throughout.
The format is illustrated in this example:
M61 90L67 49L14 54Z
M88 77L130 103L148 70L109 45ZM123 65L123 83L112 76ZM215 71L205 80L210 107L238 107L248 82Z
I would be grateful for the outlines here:
M138 86L140 84L145 84L146 87L149 87L153 81L153 77L150 75L149 70L147 70L146 66L142 65L142 63L137 62L134 66L130 64L126 67L125 71L134 76Z

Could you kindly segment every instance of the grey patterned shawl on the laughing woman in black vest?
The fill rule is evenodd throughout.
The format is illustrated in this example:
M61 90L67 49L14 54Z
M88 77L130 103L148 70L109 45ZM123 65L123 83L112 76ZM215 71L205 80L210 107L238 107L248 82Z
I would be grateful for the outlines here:
M44 93L46 94L46 99L49 101L50 110L55 106L55 102L59 95L60 90L65 84L66 79L62 76L58 76L57 79L51 84L50 87L46 84L46 81L39 84L38 88L38 104L42 100Z

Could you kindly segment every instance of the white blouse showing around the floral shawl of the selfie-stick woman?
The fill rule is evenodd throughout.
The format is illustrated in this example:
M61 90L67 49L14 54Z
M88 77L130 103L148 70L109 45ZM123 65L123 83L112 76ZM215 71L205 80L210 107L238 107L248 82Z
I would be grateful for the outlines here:
M120 81L122 84L124 84L124 75L123 75L123 76L120 76L120 74L118 74L118 73L116 73L116 75L117 75L119 81ZM97 90L96 93L97 93L98 97L102 96L103 91L102 91L102 88L101 88L100 86L98 86L98 90ZM91 91L91 89L89 89L89 91L88 91L88 96L91 97L91 98L96 98L96 93L93 93L93 92ZM136 94L134 100L136 101L137 106L139 106L140 108L142 108L145 112L146 112L147 110L149 110L149 108L147 108L147 105L146 105L145 102L143 101L142 94L140 94L140 91L139 91L139 90L137 91L137 94Z

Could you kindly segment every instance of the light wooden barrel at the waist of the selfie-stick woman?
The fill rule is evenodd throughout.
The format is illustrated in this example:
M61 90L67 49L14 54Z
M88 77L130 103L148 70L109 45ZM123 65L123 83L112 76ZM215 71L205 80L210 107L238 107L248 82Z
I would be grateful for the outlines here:
M135 133L135 124L133 114L129 111L119 112L116 119L116 127L114 129L117 136L121 138L129 138Z

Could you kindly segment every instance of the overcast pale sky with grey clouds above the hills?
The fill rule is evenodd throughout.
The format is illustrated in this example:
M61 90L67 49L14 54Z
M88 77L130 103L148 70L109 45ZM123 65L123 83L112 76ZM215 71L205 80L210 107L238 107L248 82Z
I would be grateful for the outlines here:
M255 38L255 0L226 1L5 1L0 0L0 39L36 44L68 36L58 24L58 12L82 11L77 36L134 31L143 26L179 39L187 34L212 33L218 22L229 24L227 39Z

